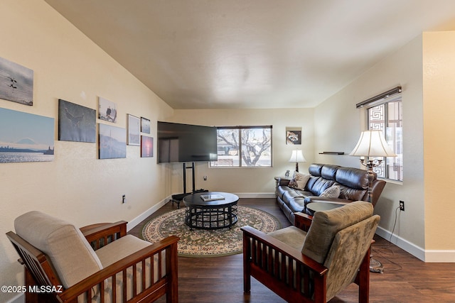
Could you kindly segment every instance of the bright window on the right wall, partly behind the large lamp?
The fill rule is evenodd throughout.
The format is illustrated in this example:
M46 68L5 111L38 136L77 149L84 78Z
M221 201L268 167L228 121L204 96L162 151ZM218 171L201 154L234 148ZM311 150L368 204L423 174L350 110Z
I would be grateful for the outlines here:
M367 109L368 129L380 129L397 157L387 157L375 167L378 177L403 180L402 101L401 95Z

